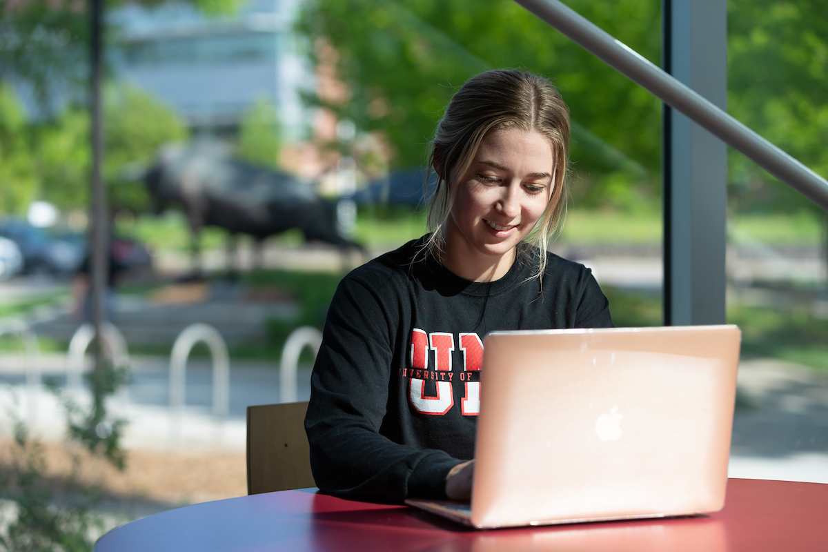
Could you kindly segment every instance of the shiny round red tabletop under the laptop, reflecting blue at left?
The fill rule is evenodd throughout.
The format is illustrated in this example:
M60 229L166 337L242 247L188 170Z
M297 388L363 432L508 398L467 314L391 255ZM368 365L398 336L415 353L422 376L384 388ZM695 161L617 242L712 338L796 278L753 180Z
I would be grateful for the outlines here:
M729 479L706 516L470 530L406 506L347 501L315 489L205 502L132 521L96 552L293 550L828 550L828 485Z

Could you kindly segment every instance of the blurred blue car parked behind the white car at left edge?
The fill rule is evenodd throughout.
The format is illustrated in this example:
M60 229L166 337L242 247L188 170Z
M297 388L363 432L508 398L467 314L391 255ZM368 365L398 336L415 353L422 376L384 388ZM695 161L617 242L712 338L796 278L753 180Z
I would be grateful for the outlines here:
M76 235L52 235L17 218L0 223L0 238L17 244L23 274L71 274L84 258L84 244Z

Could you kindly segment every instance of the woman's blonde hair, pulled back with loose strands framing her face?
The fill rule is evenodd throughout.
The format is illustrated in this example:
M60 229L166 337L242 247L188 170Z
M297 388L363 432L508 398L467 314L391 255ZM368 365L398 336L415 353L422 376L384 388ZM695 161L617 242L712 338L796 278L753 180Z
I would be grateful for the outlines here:
M540 264L533 276L537 277L546 269L546 249L555 236L566 203L569 108L551 82L520 70L491 70L472 77L445 108L428 158L426 183L431 180L431 170L437 180L428 202L431 236L426 250L440 258L445 244L445 223L454 205L456 182L453 180L469 169L488 132L507 128L540 132L551 143L555 157L549 204L540 222L524 240L540 252ZM523 249L518 247L517 252Z

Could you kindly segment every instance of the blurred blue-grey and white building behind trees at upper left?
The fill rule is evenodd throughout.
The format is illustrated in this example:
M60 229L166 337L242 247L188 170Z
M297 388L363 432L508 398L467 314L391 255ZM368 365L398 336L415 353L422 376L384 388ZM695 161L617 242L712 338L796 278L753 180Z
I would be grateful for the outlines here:
M186 4L128 4L108 15L117 79L175 108L195 136L233 137L255 101L277 108L283 137L306 139L313 68L292 31L298 0L250 0L238 12L208 17Z

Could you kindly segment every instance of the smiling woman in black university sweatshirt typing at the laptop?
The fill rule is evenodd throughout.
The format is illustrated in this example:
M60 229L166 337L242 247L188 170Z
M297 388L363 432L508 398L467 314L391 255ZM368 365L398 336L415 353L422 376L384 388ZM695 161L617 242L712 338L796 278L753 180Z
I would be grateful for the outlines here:
M305 420L322 491L468 497L485 334L612 325L590 270L546 252L569 135L561 94L532 74L488 71L451 99L431 233L351 272L330 305Z

